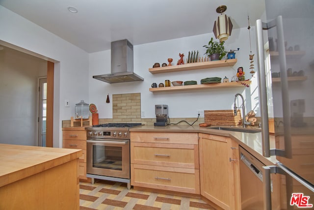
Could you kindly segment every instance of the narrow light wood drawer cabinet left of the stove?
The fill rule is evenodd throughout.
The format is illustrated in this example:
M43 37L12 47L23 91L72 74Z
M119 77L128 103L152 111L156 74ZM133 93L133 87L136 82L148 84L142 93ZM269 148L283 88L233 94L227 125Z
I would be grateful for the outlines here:
M63 128L62 129L62 147L68 149L82 150L83 154L78 160L79 179L87 180L86 177L86 130L84 128Z

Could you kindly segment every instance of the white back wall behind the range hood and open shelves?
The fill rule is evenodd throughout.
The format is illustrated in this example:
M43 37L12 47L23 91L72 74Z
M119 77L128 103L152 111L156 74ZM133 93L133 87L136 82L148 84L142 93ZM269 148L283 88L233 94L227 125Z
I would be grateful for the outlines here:
M155 43L148 43L134 46L134 72L144 78L143 82L127 82L108 84L96 79L93 75L110 73L110 50L92 53L89 55L89 102L96 104L100 118L112 118L112 104L105 103L106 95L117 93L141 93L141 109L145 111L145 118L155 117L155 104L167 104L169 106L169 116L171 118L197 117L197 110L220 110L233 109L235 93L242 93L246 98L246 110L254 110L260 116L258 105L257 78L252 78L249 73L249 32L247 28L234 30L231 37L226 41L227 51L235 50L235 57L238 62L233 67L220 67L215 69L191 70L184 72L172 72L162 74L151 74L148 69L155 62L160 65L167 62L168 58L173 58L173 65L179 60L179 53L184 53L184 60L188 51L199 50L199 55L204 56L205 48L213 33L201 34L197 36L184 37L180 39L165 40ZM252 54L256 54L255 30L251 28ZM255 56L257 66L257 56ZM213 90L189 90L152 93L149 91L152 83L164 83L166 79L175 80L200 80L207 77L227 76L231 81L236 74L236 69L243 66L246 79L252 79L250 88L234 89L213 89ZM257 71L257 67L255 69ZM254 75L256 77L256 75Z

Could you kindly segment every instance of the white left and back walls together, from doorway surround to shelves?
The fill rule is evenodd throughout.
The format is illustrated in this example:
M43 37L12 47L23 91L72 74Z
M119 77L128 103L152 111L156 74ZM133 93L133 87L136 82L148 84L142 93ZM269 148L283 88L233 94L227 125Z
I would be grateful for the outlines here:
M9 43L19 49L42 55L42 58L55 60L54 67L54 127L53 146L62 146L61 121L69 120L74 115L75 103L85 100L87 103L95 103L99 109L100 118L112 117L112 105L106 104L107 93L131 93L140 92L142 96L142 110L146 118L154 118L155 104L168 104L169 115L177 117L196 117L196 110L232 109L234 95L243 93L247 98L247 110L254 109L259 116L259 107L255 95L257 94L257 82L253 78L250 88L244 89L217 89L196 90L169 93L152 93L149 91L153 82L164 82L165 79L173 80L197 80L205 77L224 77L230 80L235 75L236 68L244 67L246 78L251 78L249 72L249 37L246 28L233 30L232 36L227 40L226 50L240 48L236 52L237 64L232 68L205 69L189 72L177 72L169 74L153 75L148 68L155 62L167 62L167 58L174 59L173 64L179 59L178 54L199 50L202 55L212 33L181 39L166 40L134 46L134 72L144 77L143 82L107 84L95 79L92 75L110 73L110 51L98 52L88 55L83 50L72 45L60 37L44 30L25 18L0 6L0 43ZM209 31L211 31L209 29ZM251 29L251 42L255 43L254 27ZM256 52L252 45L252 53ZM256 54L256 53L255 53ZM257 62L257 59L256 59ZM251 97L253 95L253 97ZM64 100L69 99L71 107L64 107ZM251 100L252 99L252 100ZM13 129L13 128L12 128Z

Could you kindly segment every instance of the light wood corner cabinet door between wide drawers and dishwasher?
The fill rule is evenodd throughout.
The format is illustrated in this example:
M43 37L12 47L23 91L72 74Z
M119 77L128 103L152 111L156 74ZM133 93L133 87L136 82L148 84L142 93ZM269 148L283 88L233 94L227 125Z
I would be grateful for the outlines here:
M201 195L225 210L240 208L238 144L199 133Z

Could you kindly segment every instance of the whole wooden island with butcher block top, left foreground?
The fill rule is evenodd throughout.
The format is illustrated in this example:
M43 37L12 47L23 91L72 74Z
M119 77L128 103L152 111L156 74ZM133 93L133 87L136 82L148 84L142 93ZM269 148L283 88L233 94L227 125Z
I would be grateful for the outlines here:
M78 210L81 150L0 144L0 209Z

